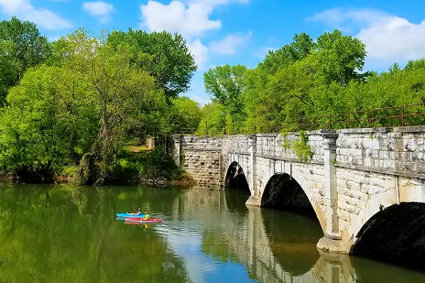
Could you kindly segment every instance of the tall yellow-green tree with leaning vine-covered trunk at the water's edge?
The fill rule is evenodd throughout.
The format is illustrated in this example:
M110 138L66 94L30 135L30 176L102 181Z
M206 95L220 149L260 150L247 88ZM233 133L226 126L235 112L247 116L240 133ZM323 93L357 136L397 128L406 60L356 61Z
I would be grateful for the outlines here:
M83 156L79 175L83 183L104 183L108 164L125 139L125 132L137 120L146 100L162 96L154 78L132 60L132 48L123 43L117 47L103 45L101 40L77 31L65 40L64 65L79 74L96 98L100 129L91 151ZM153 122L153 121L152 121Z

